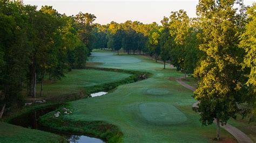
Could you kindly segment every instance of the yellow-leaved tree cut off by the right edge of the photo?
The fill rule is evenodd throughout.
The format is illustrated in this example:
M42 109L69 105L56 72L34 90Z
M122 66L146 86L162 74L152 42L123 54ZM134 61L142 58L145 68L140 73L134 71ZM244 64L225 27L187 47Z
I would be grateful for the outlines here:
M246 102L252 107L252 115L256 115L256 4L254 3L247 10L248 23L245 26L245 32L240 37L239 47L245 50L242 66L248 71L246 85L248 91Z

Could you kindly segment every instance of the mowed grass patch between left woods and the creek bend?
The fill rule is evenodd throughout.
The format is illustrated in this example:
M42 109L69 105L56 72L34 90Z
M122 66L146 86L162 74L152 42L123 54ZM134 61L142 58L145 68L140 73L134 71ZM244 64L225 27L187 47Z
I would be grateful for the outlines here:
M46 80L43 85L43 97L78 94L93 85L109 83L129 77L130 74L95 69L73 69L56 82ZM37 84L39 96L41 84Z

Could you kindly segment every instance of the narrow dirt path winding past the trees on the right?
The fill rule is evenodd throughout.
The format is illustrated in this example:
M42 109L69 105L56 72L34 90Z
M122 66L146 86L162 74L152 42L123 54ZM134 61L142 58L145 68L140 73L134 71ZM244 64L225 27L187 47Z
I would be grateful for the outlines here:
M185 82L183 82L183 81L182 81L182 78L183 78L183 77L178 77L178 78L176 78L176 81L177 81L179 84L183 85L183 87L185 87L185 88L187 88L187 89L190 89L190 90L192 90L192 91L196 90L196 88L191 87L190 85L188 85L188 84L186 84ZM197 105L198 103L199 103L199 101L197 101L196 103L194 103L194 104L192 105L192 107L193 107L193 108L198 108L198 105ZM214 123L215 123L215 120L214 120ZM230 134L232 134L233 137L234 137L235 139L237 139L238 142L250 142L250 143L252 142L252 143L253 143L253 141L252 141L245 133L243 133L242 131L240 131L238 128L236 128L236 127L234 127L234 126L232 126L232 125L230 125L230 124L226 124L226 125L221 126L221 127L223 127L226 131L228 131Z

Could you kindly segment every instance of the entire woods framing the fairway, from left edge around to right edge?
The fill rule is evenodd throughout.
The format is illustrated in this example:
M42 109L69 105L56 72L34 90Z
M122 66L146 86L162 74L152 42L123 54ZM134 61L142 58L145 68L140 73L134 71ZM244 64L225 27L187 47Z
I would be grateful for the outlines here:
M214 119L217 125L226 123L238 112L255 115L256 4L247 9L234 9L234 4L202 0L197 18L179 10L161 25L130 20L100 25L90 13L66 16L51 6L37 10L1 1L1 105L21 103L24 88L31 97L42 95L45 77L59 80L73 68L85 68L93 48L109 48L117 54L146 54L163 61L163 68L168 62L185 77L198 77L195 110L204 125ZM39 92L36 83L41 83Z

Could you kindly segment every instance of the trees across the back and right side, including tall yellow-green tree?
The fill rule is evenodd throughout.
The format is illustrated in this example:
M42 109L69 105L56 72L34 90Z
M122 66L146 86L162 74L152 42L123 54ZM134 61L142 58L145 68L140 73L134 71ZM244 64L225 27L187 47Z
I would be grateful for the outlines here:
M239 4L239 9L234 8ZM127 21L97 24L95 48L127 54L141 52L169 61L177 70L198 77L194 98L204 125L226 123L237 113L256 113L256 4L246 8L235 1L199 1L198 18L171 12L156 23ZM253 118L251 118L253 119Z

